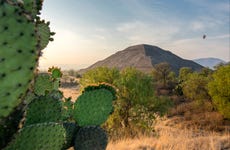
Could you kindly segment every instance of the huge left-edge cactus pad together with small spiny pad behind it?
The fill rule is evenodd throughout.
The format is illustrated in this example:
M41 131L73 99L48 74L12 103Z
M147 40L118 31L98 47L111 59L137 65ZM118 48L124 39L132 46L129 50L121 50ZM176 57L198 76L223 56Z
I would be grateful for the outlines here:
M42 0L0 0L0 118L20 104L41 50L54 34L38 17Z

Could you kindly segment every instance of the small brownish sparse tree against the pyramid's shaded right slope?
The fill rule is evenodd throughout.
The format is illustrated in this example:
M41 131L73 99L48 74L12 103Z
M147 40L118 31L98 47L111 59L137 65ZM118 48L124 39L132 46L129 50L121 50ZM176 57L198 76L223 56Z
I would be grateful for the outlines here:
M153 76L158 82L162 83L164 87L167 85L171 72L171 67L167 62L159 63L154 66Z

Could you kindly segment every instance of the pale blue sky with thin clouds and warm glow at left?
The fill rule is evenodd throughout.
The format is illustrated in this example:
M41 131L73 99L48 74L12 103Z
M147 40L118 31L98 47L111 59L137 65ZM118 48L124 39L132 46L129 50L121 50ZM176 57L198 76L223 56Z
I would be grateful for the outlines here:
M41 13L56 34L40 69L85 68L137 44L230 60L230 0L44 0Z

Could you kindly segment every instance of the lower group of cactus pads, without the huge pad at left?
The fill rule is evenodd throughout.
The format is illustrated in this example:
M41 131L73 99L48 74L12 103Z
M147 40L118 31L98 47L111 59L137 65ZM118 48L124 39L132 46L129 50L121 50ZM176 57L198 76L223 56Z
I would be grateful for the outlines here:
M36 77L33 99L28 100L23 127L5 150L106 148L107 135L100 125L113 112L115 90L107 84L91 85L72 102L54 86L58 78L52 76L52 71ZM38 84L44 82L41 79L49 88ZM40 92L36 93L35 89Z

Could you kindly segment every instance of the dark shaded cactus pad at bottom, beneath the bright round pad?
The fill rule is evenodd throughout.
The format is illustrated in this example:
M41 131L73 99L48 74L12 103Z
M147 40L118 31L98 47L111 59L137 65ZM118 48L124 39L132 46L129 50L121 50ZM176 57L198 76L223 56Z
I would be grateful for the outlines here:
M98 126L81 128L74 141L77 150L105 150L108 143L106 132Z

